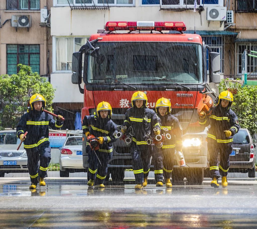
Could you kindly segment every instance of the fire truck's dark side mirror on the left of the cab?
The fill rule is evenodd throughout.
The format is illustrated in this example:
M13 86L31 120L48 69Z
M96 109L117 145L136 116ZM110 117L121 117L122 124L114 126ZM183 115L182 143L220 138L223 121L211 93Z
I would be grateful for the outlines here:
M71 82L73 84L81 84L82 82L82 52L75 52L72 54L72 76Z

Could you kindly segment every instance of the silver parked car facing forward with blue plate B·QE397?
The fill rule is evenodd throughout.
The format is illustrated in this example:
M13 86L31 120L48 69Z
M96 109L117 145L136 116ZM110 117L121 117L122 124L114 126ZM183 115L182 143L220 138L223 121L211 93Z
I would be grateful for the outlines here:
M0 131L0 177L5 173L28 172L27 154L15 130Z

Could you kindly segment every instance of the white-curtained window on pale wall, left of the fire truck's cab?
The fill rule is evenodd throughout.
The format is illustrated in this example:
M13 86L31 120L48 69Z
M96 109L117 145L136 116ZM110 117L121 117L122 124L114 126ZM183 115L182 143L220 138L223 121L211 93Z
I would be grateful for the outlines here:
M87 37L56 38L56 71L71 71L72 54L87 42Z

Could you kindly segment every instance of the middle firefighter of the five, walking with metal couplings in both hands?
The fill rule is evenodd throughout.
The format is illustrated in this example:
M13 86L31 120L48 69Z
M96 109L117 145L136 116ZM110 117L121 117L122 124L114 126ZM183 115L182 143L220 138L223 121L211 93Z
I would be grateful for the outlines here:
M142 189L143 182L144 186L147 184L147 177L150 171L151 156L155 156L155 148L148 145L146 142L146 136L149 134L157 135L160 133L160 118L155 114L155 112L147 108L147 96L144 92L137 91L133 93L132 107L127 109L125 113L125 120L123 126L127 129L132 127L134 136L132 138L132 143L130 144L130 152L132 155L132 165L135 175L135 189ZM158 131L153 131L157 127ZM123 134L126 132L122 129ZM158 173L155 173L155 182L157 186L162 186L162 160L157 160L155 158L154 170L157 171L159 165Z

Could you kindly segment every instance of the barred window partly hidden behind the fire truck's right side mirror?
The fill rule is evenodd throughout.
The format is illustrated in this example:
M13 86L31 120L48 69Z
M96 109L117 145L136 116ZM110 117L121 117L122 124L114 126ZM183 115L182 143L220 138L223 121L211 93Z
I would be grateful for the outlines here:
M208 45L213 52L217 52L221 55L221 73L223 72L224 68L224 42L223 42L223 37L218 36L202 36L203 41L205 42L206 45ZM206 49L207 54L206 54L206 62L207 62L207 70L209 69L209 50Z

